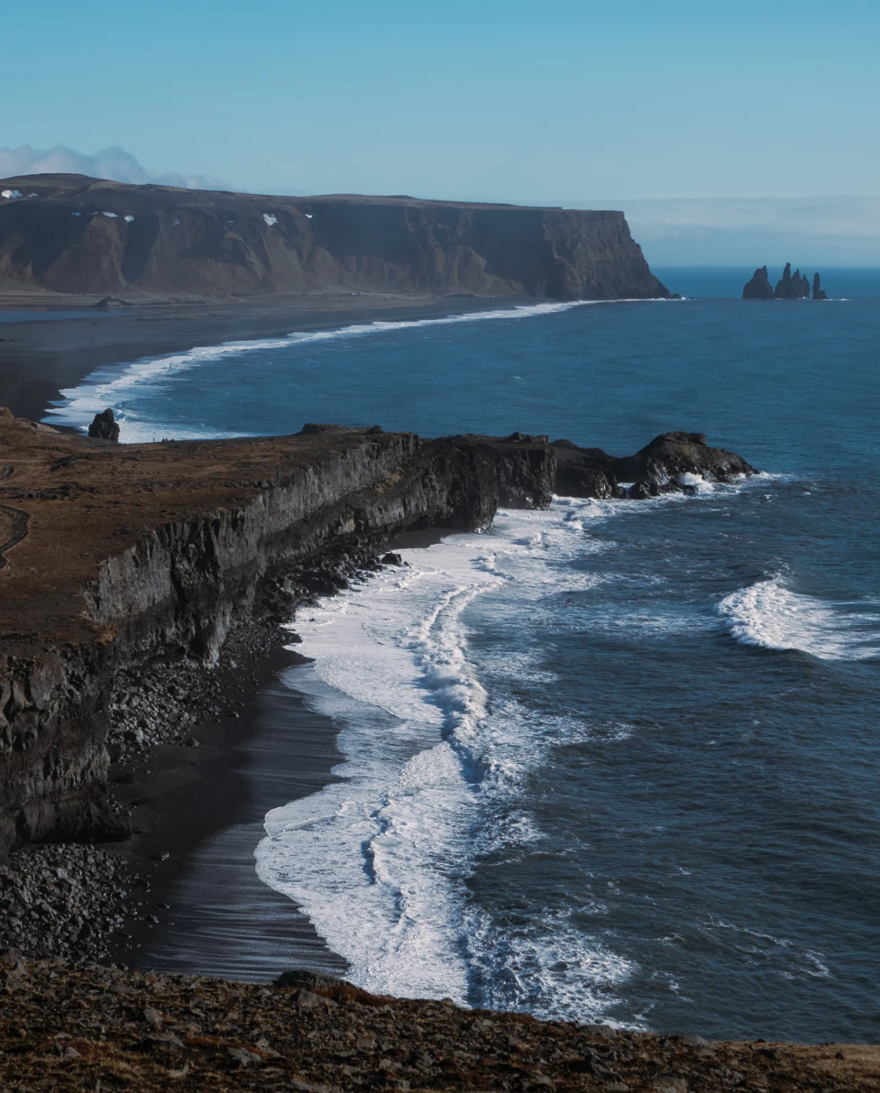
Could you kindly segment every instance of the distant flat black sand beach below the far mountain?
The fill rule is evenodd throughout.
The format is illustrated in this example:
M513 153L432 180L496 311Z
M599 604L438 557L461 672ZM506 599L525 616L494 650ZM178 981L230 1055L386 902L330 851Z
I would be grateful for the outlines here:
M118 313L95 312L93 296L33 298L0 293L0 406L16 418L39 421L63 388L97 368L143 357L187 352L200 345L284 337L359 322L445 318L486 307L540 303L520 296L407 296L403 294L297 295L243 301L138 303ZM24 306L23 306L24 305ZM4 322L3 313L33 310L33 318ZM40 319L40 312L75 313ZM92 312L94 317L83 315ZM57 426L58 427L58 426ZM60 426L63 427L63 426Z

